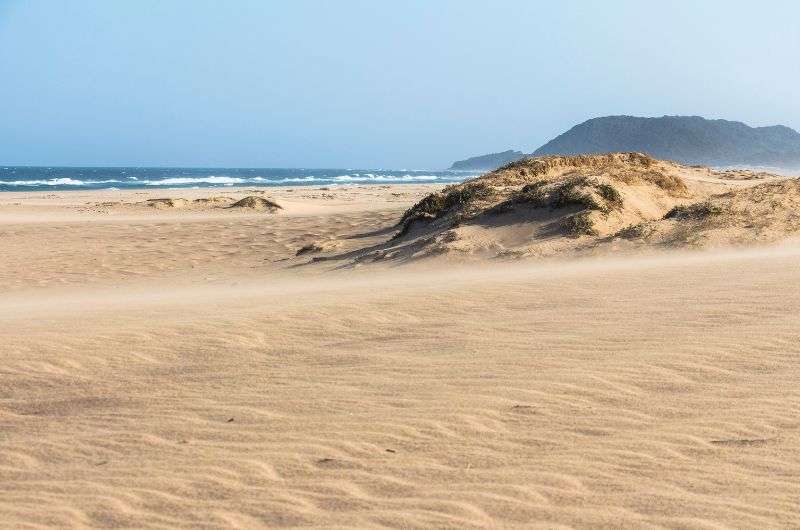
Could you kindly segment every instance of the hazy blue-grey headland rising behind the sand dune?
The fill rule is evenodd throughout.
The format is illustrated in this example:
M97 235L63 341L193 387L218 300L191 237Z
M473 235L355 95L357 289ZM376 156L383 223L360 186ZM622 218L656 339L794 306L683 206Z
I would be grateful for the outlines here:
M750 127L699 116L606 116L576 125L528 156L615 151L638 151L684 164L795 168L800 167L800 133L782 125ZM468 162L456 164L459 169L487 169L468 167Z

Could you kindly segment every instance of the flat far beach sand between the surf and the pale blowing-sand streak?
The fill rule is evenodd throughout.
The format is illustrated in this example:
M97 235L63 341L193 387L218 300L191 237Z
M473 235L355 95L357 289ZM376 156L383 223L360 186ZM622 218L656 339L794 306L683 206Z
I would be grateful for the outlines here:
M0 193L0 292L270 277L319 255L380 243L408 207L440 187ZM282 209L231 207L248 196ZM149 202L165 198L170 202ZM309 245L318 250L302 253Z

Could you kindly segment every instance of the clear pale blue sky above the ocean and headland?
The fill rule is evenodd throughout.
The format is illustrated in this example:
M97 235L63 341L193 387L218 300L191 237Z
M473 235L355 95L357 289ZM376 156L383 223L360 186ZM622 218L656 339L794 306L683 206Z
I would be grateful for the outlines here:
M586 119L800 129L800 2L0 0L0 164L447 167Z

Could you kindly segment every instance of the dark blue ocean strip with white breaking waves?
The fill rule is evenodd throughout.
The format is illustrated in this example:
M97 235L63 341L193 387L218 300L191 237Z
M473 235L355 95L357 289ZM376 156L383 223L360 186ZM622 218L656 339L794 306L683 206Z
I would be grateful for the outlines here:
M474 171L0 166L0 191L460 182Z

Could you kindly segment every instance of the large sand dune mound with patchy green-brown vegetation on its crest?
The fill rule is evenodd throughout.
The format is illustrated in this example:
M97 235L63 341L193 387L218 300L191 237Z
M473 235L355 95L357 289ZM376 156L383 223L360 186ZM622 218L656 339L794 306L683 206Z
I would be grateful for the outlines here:
M640 153L510 163L432 193L354 263L433 255L547 257L771 243L800 231L800 180Z

